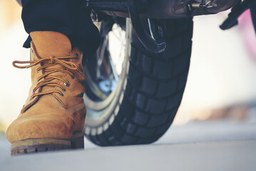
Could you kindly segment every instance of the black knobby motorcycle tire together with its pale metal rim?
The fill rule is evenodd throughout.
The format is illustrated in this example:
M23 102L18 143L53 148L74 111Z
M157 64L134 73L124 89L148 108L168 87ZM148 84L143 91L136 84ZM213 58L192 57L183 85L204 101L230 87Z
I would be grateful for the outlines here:
M163 53L155 54L142 46L127 19L126 26L123 26L126 30L127 63L124 62L122 66L121 86L112 95L111 102L102 107L103 100L94 98L93 101L93 95L89 95L90 86L87 85L84 99L88 113L84 133L94 144L116 146L152 143L173 123L188 77L193 19L168 19L162 22L165 24L167 48ZM90 61L86 63L86 72L91 73L91 76L86 75L89 80L93 80L93 69L89 69L91 66Z

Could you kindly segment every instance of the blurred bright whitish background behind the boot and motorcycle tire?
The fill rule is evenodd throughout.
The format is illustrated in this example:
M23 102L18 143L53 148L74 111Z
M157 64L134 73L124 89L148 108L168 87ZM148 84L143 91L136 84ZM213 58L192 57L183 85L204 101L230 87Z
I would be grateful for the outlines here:
M228 11L194 18L190 73L182 105L174 125L228 121L256 123L256 36L250 11L239 26L227 31L219 26ZM0 132L20 113L27 98L30 70L12 66L29 60L22 48L27 34L21 21L21 6L0 0Z

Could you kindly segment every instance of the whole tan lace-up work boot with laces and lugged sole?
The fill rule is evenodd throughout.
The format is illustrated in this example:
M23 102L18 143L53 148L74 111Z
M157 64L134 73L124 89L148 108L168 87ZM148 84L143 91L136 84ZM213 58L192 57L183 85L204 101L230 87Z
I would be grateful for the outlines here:
M31 38L31 61L13 63L16 68L31 68L32 86L19 117L6 132L11 155L82 148L86 119L83 53L72 50L62 33L35 31Z

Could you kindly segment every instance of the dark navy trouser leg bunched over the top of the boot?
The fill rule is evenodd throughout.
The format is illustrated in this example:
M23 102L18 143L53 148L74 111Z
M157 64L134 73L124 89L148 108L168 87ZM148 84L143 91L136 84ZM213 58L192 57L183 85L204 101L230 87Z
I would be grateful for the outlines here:
M22 20L27 33L56 31L65 34L72 46L81 48L85 56L92 56L98 48L100 35L93 25L88 9L78 0L22 0ZM29 48L31 38L24 47Z

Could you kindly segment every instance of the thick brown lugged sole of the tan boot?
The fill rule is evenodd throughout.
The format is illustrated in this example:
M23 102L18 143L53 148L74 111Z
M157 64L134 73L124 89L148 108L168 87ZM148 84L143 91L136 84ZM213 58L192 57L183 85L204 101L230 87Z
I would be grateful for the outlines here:
M68 140L54 138L21 140L11 144L11 156L23 155L34 152L83 149L83 136L83 132L76 132L73 133L73 136Z

